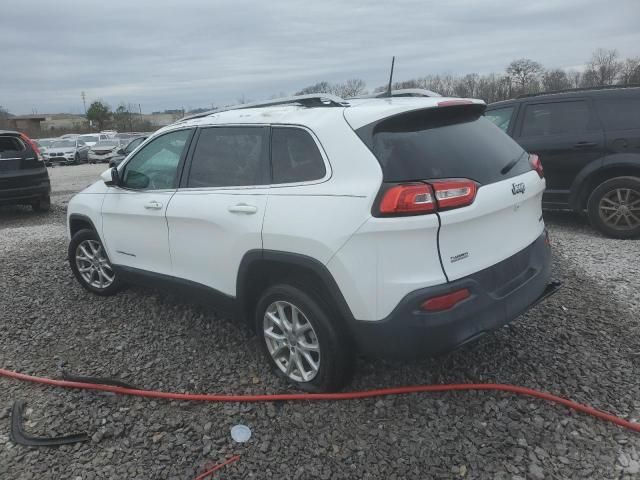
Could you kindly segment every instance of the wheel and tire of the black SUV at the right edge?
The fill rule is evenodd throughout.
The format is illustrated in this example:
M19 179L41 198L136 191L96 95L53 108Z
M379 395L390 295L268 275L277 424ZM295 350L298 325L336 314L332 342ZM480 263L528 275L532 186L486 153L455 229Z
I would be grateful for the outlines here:
M587 213L591 225L608 237L640 236L640 178L602 182L589 196Z

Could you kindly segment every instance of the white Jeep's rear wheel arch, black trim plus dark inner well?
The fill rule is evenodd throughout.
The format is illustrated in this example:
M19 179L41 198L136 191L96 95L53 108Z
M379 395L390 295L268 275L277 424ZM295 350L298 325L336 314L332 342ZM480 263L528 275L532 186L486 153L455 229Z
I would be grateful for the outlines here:
M354 317L329 269L307 255L275 250L247 252L238 269L237 317L253 330L253 310L261 292L279 282L313 289L309 292L333 308L350 324Z

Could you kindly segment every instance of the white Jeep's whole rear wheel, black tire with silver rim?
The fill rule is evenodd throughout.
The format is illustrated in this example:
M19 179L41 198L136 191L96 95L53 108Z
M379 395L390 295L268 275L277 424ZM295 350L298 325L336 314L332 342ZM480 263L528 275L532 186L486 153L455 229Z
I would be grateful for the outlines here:
M307 392L340 390L355 365L341 319L288 284L268 288L256 307L258 338L276 375Z

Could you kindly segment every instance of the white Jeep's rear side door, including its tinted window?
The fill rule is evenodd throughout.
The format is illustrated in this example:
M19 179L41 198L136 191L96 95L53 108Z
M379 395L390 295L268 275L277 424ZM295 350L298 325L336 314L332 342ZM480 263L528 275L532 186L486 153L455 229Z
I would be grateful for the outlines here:
M244 254L262 248L269 128L199 130L167 209L173 275L235 296Z

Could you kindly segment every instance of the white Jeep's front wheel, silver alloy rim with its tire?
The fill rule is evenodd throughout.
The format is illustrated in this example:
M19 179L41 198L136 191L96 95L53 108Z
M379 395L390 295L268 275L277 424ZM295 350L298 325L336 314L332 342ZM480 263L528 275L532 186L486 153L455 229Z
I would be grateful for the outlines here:
M110 296L122 289L123 283L94 230L80 230L71 238L68 257L73 274L86 290Z

